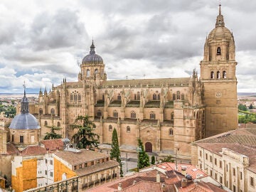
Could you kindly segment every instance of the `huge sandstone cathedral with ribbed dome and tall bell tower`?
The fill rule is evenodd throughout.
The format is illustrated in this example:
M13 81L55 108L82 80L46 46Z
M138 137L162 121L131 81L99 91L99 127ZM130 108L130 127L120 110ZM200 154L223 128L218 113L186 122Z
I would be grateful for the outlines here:
M40 139L51 126L72 139L76 117L88 115L103 146L111 144L115 128L121 150L136 151L141 138L148 152L190 159L191 142L238 127L236 65L233 33L219 7L204 45L200 77L193 71L190 78L107 80L92 41L78 81L63 79L50 92L40 90L29 111L40 124Z

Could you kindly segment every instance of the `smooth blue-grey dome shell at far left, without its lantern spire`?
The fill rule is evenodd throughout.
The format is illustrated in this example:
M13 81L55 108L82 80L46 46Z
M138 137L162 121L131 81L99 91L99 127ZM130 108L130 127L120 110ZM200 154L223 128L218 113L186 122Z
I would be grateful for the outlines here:
M9 126L10 129L40 129L38 120L33 114L21 113L17 114L14 119L12 119Z

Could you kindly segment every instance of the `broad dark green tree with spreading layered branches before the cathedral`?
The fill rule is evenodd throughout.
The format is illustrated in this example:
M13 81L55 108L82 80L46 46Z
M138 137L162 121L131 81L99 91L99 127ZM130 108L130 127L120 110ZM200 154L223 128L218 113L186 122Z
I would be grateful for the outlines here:
M89 120L89 116L80 115L75 119L75 123L76 124L74 124L72 127L73 129L78 129L78 132L74 134L72 138L75 141L78 141L77 148L85 149L86 146L89 146L90 148L92 146L97 147L97 144L99 144L100 136L93 132L93 129L96 126L93 122Z

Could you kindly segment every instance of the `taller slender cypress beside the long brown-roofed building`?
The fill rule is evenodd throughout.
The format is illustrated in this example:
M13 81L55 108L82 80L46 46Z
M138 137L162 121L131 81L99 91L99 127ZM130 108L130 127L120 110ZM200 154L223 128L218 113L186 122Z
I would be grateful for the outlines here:
M122 162L120 159L120 150L119 150L119 144L118 144L118 138L117 138L117 130L114 128L112 132L112 144L111 144L111 150L110 150L110 159L116 159L116 161L120 165L120 176L123 176L122 171Z

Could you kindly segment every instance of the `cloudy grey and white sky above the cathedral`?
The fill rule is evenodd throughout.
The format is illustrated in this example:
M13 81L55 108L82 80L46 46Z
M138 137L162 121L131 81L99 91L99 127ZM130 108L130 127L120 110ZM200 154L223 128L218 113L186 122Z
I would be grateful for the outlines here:
M189 77L215 27L218 0L1 0L0 93L76 81L90 51L109 80ZM255 92L256 1L223 0L236 46L238 92Z

